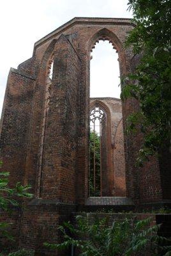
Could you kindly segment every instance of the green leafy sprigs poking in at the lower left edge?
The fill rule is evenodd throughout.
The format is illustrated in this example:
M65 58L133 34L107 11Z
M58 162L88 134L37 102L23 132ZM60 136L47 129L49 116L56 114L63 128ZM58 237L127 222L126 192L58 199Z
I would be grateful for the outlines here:
M0 161L0 168L3 162ZM33 195L28 193L31 186L22 186L20 182L11 188L9 185L9 172L0 172L0 210L11 214L13 207L19 207L19 200L16 198L31 198ZM14 240L13 236L8 232L8 228L12 223L6 221L0 222L0 237L6 237L6 239ZM1 247L0 247L1 252Z

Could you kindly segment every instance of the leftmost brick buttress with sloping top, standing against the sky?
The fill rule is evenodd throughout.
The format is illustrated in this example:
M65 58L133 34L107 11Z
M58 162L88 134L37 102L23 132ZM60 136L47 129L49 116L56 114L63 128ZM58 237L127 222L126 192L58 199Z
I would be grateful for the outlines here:
M34 90L34 77L11 68L1 116L0 159L10 183L23 182Z

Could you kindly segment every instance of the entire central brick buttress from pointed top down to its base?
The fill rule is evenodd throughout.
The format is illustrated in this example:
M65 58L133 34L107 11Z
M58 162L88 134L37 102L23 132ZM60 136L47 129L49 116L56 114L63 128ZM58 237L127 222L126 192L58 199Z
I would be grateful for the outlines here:
M43 166L39 174L41 198L35 198L24 209L20 230L20 246L29 244L35 255L59 255L43 243L59 241L57 227L70 220L76 200L80 60L64 35L57 40L53 54Z

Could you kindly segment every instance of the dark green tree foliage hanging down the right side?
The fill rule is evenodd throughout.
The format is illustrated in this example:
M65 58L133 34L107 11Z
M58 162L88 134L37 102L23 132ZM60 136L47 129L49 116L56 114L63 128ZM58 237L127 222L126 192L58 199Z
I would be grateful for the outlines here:
M171 141L171 8L170 0L130 0L136 27L125 47L142 57L133 74L123 77L121 99L134 97L140 109L127 118L127 132L144 134L137 164L142 166ZM159 155L160 156L160 155Z

